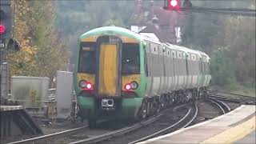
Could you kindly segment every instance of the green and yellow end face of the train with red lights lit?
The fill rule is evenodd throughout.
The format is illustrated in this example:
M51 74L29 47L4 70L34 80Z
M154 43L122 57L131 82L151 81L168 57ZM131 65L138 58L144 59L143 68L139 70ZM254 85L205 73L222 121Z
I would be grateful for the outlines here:
M89 122L136 118L145 87L142 42L115 26L90 30L79 41L74 73L79 116Z

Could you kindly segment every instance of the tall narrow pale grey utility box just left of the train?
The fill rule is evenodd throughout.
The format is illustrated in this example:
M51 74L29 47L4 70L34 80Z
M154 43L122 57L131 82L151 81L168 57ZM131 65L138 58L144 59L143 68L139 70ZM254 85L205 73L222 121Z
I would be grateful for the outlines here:
M72 111L73 91L73 73L57 71L57 118L70 117L70 113Z

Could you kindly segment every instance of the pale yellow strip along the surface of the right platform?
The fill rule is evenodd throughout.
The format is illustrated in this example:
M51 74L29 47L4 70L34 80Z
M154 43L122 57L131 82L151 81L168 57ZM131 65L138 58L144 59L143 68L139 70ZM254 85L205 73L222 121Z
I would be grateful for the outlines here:
M200 143L233 143L255 130L255 116Z

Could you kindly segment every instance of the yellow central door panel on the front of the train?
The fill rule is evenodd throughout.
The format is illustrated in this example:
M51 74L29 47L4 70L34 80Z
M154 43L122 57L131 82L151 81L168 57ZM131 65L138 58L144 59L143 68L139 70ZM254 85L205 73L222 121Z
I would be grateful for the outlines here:
M99 57L98 94L114 96L117 89L118 51L113 44L102 44Z

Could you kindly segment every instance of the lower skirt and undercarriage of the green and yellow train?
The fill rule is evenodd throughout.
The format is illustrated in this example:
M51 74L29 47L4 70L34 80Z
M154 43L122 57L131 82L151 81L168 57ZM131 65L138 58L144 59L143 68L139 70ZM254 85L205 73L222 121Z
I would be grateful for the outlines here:
M89 109L78 110L78 117L88 120L90 127L95 127L99 119L120 119L136 120L146 119L169 106L179 105L199 98L204 98L207 94L206 87L190 90L175 90L169 94L144 98L87 98L85 101L94 105ZM104 104L104 102L106 103ZM127 101L130 101L128 103ZM80 102L81 99L80 99ZM140 103L140 104L139 104ZM91 104L91 103L90 103ZM133 104L133 105L130 105ZM79 106L79 105L78 105Z

